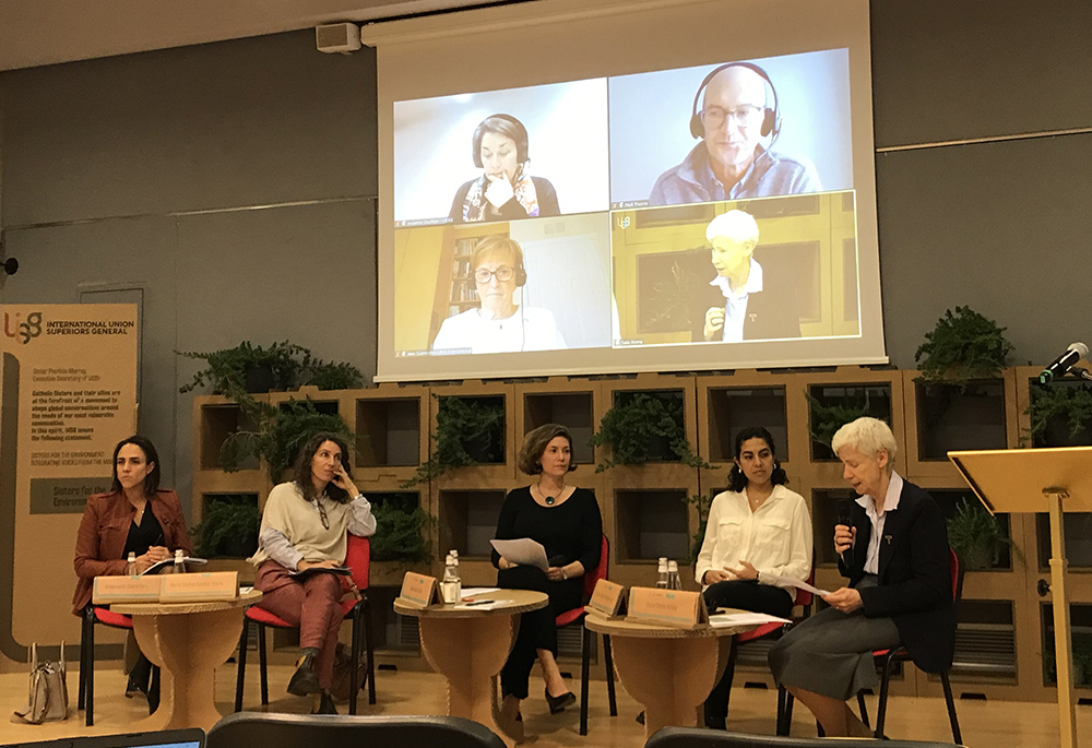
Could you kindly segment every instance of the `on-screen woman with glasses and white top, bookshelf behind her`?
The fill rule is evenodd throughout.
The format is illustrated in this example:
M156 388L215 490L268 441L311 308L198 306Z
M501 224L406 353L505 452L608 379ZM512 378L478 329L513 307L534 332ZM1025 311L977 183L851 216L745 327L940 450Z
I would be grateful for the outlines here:
M527 282L518 241L501 235L478 241L471 256L471 276L482 306L443 320L432 351L470 348L477 354L566 347L549 309L515 304L515 289Z

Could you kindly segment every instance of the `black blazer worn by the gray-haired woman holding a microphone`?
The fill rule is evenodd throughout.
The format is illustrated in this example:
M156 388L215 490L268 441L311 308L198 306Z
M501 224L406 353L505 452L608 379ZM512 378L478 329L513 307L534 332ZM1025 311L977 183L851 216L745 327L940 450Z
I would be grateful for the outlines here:
M899 508L888 511L880 538L879 586L860 590L869 618L890 616L914 664L926 673L951 667L956 652L956 604L949 567L948 530L940 507L925 490L903 482ZM865 575L871 522L854 502L857 529L853 568L839 569L855 587Z

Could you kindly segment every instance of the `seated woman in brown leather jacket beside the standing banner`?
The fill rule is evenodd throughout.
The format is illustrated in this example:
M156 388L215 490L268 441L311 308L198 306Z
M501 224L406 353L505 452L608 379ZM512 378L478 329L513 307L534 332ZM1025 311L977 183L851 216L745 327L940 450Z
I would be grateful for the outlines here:
M159 488L159 455L151 440L140 435L114 448L114 485L109 494L87 499L75 539L75 573L80 579L72 596L72 613L82 616L91 604L95 577L136 574L170 558L181 548L190 553L186 518L178 495ZM136 562L127 561L129 553ZM127 696L147 693L151 663L142 654L129 675Z

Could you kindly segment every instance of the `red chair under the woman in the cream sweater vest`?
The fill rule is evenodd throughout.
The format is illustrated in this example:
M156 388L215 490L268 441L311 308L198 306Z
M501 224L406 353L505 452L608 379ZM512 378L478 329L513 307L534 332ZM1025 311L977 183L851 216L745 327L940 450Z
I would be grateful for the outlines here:
M345 555L345 566L353 570L353 581L360 591L360 599L349 599L342 603L342 612L345 618L353 621L353 645L352 662L354 666L349 668L349 697L348 713L356 714L356 697L361 685L358 682L358 667L360 662L360 648L367 648L368 672L365 680L368 681L368 703L376 703L376 664L375 664L375 637L371 632L371 604L368 601L368 575L371 567L371 545L366 537L357 537L352 533L348 536L348 549ZM270 702L269 677L265 660L265 627L272 626L277 629L296 628L278 616L274 616L269 610L263 610L258 606L247 608L246 618L242 621L242 637L239 639L239 669L235 682L235 711L242 711L242 687L247 669L247 639L250 631L250 624L258 627L258 660L261 667L262 705ZM363 626L361 626L363 624Z

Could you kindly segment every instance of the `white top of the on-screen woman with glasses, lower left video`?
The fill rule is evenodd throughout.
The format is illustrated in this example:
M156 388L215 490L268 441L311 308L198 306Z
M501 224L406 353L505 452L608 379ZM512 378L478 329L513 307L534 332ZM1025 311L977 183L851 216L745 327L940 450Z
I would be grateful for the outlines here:
M432 351L470 349L471 353L510 353L513 351L557 351L565 348L554 312L521 306L503 319L486 319L475 307L443 320L432 341Z

